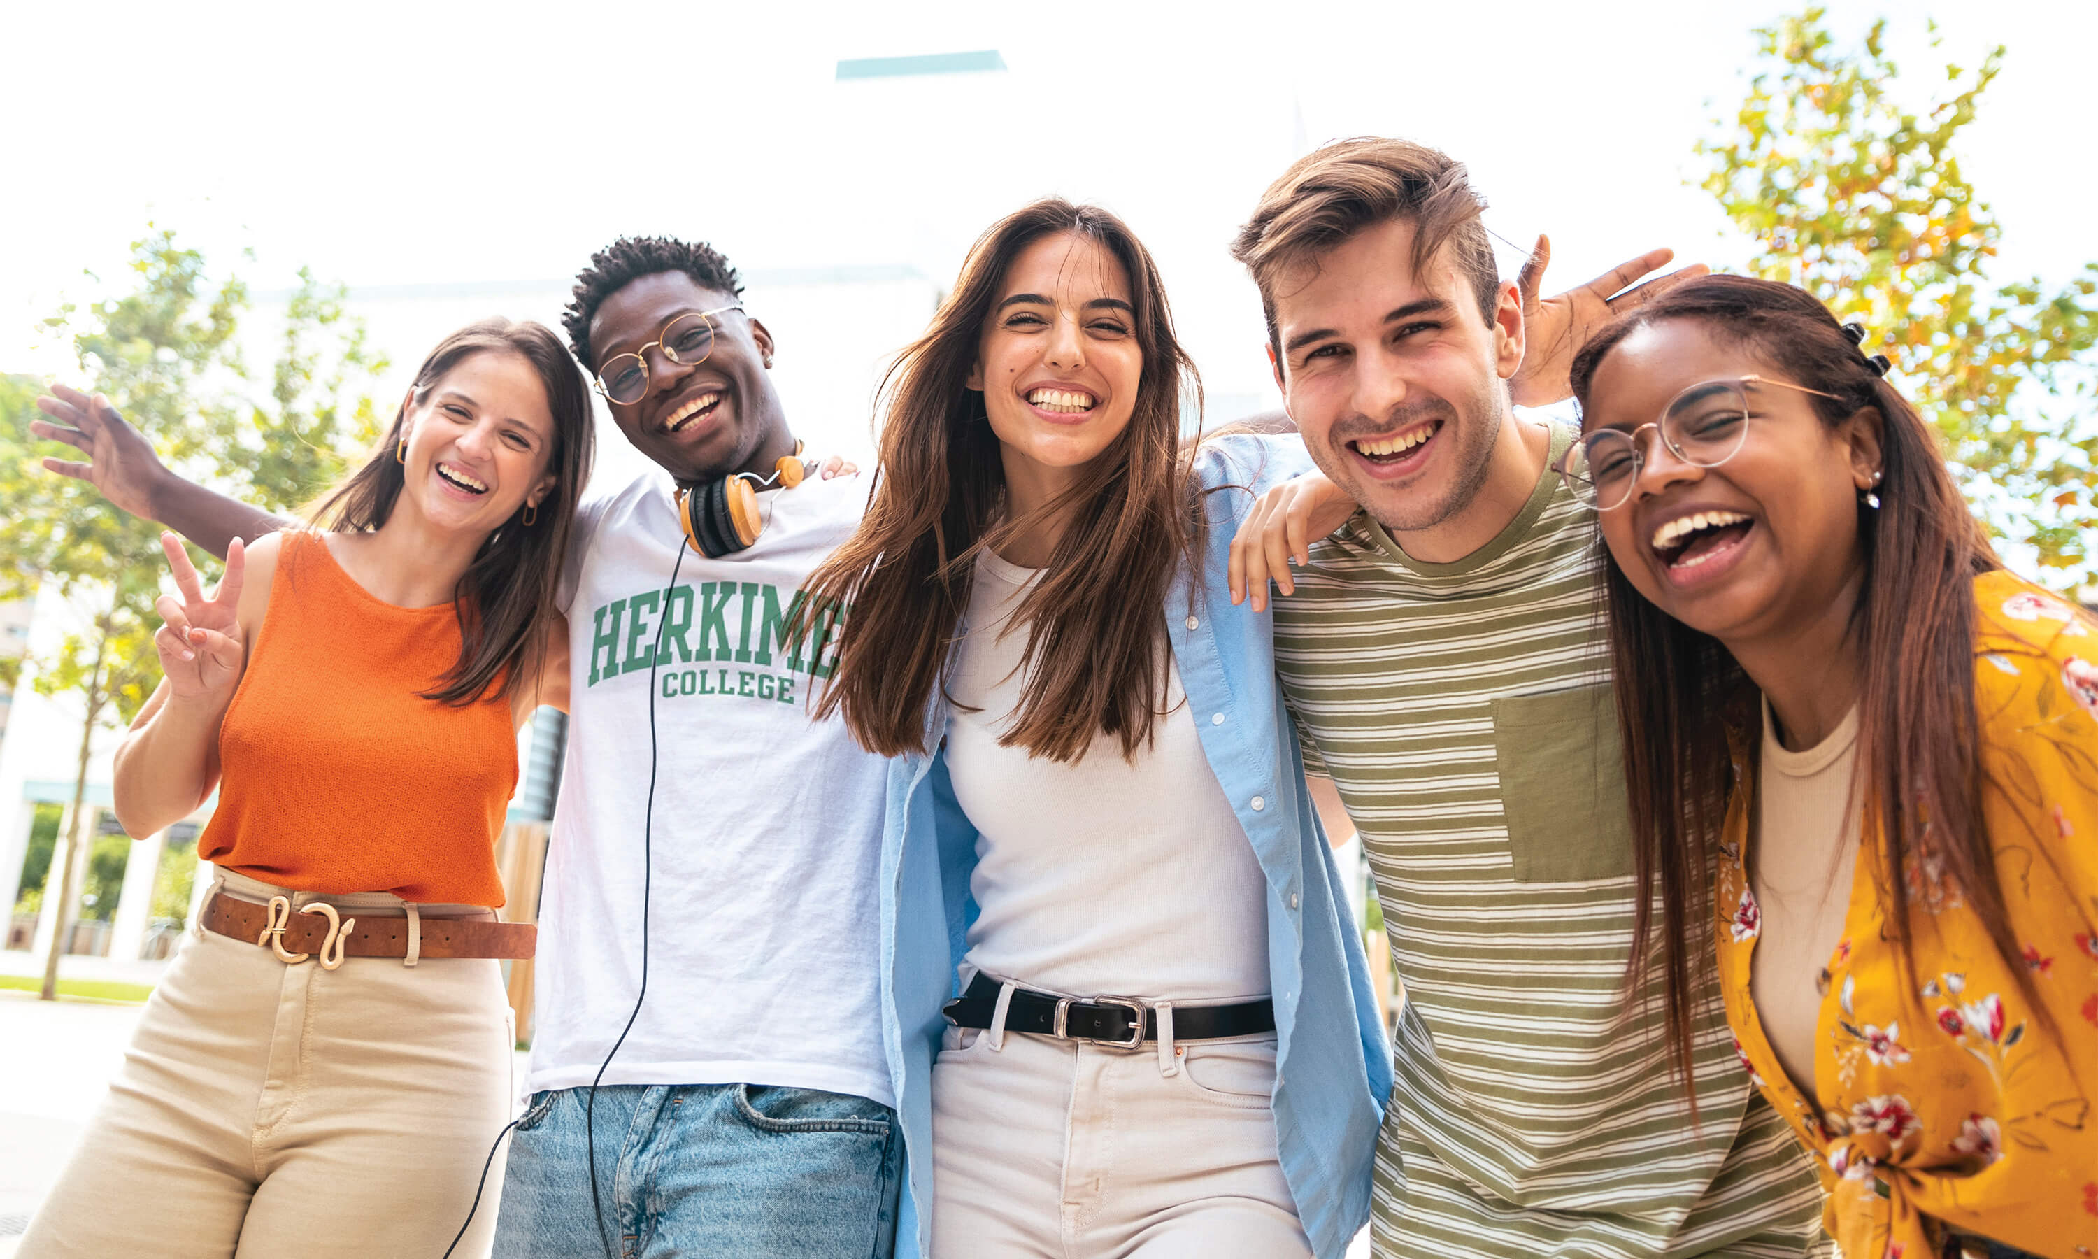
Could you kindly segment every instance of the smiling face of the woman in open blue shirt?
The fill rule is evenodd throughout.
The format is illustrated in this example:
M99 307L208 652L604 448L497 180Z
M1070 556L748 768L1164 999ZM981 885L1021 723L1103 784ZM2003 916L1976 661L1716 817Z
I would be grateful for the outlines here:
M1041 502L1129 428L1143 380L1122 262L1091 237L1022 250L978 338L969 388L999 436L1015 499Z

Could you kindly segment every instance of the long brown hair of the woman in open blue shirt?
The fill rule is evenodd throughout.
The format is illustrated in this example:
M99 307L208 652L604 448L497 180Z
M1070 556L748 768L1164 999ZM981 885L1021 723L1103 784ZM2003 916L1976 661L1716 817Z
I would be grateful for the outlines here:
M1129 426L1076 483L1030 518L1001 520L999 439L984 394L965 382L1007 266L1055 233L1095 241L1129 273L1143 376ZM1122 755L1150 743L1164 705L1160 606L1202 535L1181 457L1183 388L1200 407L1158 266L1120 218L1043 199L992 225L932 327L890 367L866 518L810 577L804 606L850 604L818 713L841 711L854 739L881 755L925 751L925 711L969 602L978 548L1070 512L1047 573L1015 609L1015 623L1028 623L1026 684L1001 743L1057 762L1080 760L1099 732L1120 739Z

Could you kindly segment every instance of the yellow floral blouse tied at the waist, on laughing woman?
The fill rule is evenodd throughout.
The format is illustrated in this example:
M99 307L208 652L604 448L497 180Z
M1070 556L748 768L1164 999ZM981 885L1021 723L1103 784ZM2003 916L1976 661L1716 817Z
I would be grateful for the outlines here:
M1848 1259L1928 1259L1939 1225L2035 1255L2098 1255L2098 634L2008 575L1974 581L1983 810L2035 1018L1928 852L1905 873L1915 974L1882 936L1886 871L1859 844L1844 938L1825 972L1819 1097L1756 1022L1748 799L1737 762L1718 871L1718 974L1741 1066L1815 1154Z

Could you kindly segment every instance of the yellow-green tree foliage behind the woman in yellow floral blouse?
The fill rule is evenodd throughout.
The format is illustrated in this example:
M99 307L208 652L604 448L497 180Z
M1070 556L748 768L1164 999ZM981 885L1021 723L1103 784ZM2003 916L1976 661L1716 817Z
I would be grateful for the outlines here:
M2094 581L2098 264L2058 290L1995 283L2004 229L1960 170L2004 48L1945 65L1941 94L1911 109L1884 21L1857 48L1823 8L1754 34L1760 71L1697 147L1704 187L1758 246L1750 271L1861 321L1989 525L2031 546L2054 585Z

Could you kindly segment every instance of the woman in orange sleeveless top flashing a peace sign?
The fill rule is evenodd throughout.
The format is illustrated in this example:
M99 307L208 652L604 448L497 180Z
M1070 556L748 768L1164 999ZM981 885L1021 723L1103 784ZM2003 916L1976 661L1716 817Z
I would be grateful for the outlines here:
M510 1114L495 837L516 730L566 705L554 592L590 474L581 371L491 319L386 445L204 594L164 535L166 680L115 762L132 835L189 816L216 881L23 1257L487 1255Z

